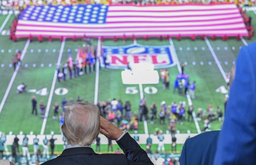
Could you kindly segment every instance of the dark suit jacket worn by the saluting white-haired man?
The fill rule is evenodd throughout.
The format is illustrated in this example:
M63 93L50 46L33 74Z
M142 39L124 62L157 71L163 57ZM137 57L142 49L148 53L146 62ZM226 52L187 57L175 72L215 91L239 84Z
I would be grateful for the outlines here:
M146 152L126 133L118 146L124 154L96 154L90 147L64 149L63 153L43 165L153 165Z

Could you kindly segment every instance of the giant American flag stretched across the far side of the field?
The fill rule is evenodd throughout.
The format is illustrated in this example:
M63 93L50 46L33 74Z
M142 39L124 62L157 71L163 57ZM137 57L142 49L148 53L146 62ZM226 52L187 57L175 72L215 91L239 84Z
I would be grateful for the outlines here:
M16 37L247 36L235 4L28 6Z

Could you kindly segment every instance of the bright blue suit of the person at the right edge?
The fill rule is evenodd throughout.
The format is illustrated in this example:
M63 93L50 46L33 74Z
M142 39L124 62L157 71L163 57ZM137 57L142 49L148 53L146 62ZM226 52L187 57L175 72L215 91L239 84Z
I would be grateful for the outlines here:
M242 47L214 164L256 163L256 42Z

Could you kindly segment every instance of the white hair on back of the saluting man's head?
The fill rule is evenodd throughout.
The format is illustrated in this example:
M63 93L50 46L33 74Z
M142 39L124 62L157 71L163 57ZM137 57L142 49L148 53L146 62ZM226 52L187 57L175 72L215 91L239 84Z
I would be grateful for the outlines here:
M68 144L91 145L100 132L100 110L90 103L70 102L64 106L61 129Z

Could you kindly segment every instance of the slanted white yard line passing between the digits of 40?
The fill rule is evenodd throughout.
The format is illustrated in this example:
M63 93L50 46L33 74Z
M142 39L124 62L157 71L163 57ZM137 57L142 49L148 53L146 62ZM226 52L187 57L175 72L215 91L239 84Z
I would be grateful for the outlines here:
M65 40L66 40L66 38L64 37L63 41L62 41L62 45L60 47L60 53L59 53L58 62L57 62L58 64L60 63L60 61L62 59L62 54L63 54L63 50L64 50L64 46L65 46ZM47 102L47 106L46 106L45 118L43 119L43 124L42 124L41 132L40 132L41 135L44 134L44 129L46 127L46 122L47 122L47 118L48 118L48 114L49 114L49 110L50 110L50 103L52 102L53 91L55 88L56 79L57 79L57 70L55 69L52 87L50 90L50 94L49 94L49 98L48 98L48 102Z

